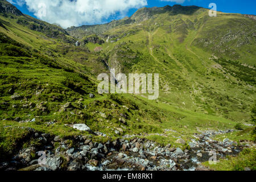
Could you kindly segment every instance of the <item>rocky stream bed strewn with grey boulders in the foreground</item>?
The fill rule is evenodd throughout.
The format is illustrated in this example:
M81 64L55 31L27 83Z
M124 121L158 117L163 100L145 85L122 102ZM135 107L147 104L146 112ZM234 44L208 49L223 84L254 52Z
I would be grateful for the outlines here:
M227 138L222 142L211 139L214 135L230 133L233 130L195 134L195 139L188 143L189 147L184 151L181 148L173 148L171 144L159 146L141 137L127 138L131 136L124 136L113 142L109 140L106 143L97 143L92 142L90 136L80 135L72 138L71 146L68 144L71 139L61 139L30 130L42 145L19 150L11 160L0 163L1 170L209 170L201 166L201 162L208 161L214 155L218 160L226 155L238 155L242 151L242 146ZM59 143L59 147L53 147L55 143ZM35 159L40 157L39 151L46 152L46 163L42 166L38 164L38 159ZM32 157L32 154L36 156Z

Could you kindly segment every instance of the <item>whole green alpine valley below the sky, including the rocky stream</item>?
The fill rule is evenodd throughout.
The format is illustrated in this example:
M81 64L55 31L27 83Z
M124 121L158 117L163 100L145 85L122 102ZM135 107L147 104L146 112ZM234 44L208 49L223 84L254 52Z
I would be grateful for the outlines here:
M255 170L256 18L208 13L63 29L0 0L0 169ZM109 69L159 73L158 100L99 94Z

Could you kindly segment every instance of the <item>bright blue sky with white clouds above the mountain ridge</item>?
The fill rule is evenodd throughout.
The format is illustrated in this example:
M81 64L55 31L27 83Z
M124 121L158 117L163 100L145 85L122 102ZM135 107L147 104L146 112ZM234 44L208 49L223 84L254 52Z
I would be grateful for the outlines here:
M131 16L137 9L144 6L163 7L166 5L173 6L180 4L183 6L195 5L208 8L210 3L216 3L217 11L256 15L255 0L76 0L79 2L76 3L78 5L71 4L70 1L75 3L75 0L9 0L9 2L13 3L24 14L45 20L49 23L58 23L64 28L80 26L81 24L110 22L113 19L120 19L126 15ZM40 10L38 7L40 6L40 2L45 3L47 9L45 16L39 14ZM59 2L59 5L56 5L56 2ZM65 2L66 5L63 2Z

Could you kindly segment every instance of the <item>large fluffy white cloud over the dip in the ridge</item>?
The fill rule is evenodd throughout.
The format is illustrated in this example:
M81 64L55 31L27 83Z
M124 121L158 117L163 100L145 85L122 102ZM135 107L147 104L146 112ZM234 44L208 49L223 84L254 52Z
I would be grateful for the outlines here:
M125 16L132 8L147 5L147 0L13 0L26 3L36 17L61 27L102 23L110 16Z

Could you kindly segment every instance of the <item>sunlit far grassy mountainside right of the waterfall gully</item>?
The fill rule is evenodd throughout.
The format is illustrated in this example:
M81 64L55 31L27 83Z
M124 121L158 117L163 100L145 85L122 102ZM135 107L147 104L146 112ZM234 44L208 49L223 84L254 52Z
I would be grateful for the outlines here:
M129 23L93 32L105 43L86 45L90 50L101 46L117 72L160 73L161 102L249 121L255 100L255 26L246 16L209 17L199 7L144 8Z

